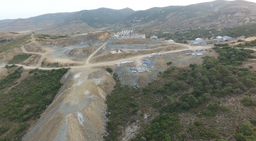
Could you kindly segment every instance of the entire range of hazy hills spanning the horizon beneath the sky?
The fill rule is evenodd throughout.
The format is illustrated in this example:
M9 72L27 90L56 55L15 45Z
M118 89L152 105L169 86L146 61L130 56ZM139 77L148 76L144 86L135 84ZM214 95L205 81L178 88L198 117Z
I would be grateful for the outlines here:
M134 11L99 8L73 13L44 14L27 19L0 20L0 31L79 34L95 30L132 29L153 34L184 34L197 29L239 27L256 23L256 3L215 0L187 6L153 7ZM211 32L213 30L210 30Z

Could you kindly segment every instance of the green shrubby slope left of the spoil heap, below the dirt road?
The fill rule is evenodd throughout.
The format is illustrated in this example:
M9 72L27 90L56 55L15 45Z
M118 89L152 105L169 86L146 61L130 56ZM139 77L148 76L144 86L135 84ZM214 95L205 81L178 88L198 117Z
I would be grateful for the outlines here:
M69 69L33 69L24 78L23 67L0 80L0 141L21 140L31 120L36 120L63 85L60 79ZM26 72L24 72L26 73Z

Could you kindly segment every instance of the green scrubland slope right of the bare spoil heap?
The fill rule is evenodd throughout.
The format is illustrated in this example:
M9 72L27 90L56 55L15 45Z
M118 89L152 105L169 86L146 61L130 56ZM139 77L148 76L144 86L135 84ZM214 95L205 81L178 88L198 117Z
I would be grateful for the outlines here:
M256 58L254 51L220 43L213 49L217 58L205 56L202 65L171 67L144 88L121 86L114 74L115 90L106 98L106 140L122 139L128 126L139 128L132 141L255 139L256 74L241 67ZM240 98L234 102L241 107L223 104L227 98Z

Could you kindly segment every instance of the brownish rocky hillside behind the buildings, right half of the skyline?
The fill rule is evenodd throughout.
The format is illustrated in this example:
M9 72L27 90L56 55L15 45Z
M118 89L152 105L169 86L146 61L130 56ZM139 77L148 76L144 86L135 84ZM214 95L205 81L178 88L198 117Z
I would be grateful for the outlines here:
M136 11L109 27L141 33L175 32L195 28L223 29L256 22L256 3L216 0L187 6L154 7Z

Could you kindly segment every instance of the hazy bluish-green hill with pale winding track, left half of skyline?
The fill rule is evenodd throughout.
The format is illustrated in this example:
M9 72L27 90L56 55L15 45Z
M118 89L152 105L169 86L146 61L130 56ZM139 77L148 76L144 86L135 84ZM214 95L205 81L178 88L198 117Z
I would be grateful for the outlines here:
M134 12L130 8L120 10L99 8L72 13L43 14L26 19L0 20L0 31L50 34L82 33L115 24Z

